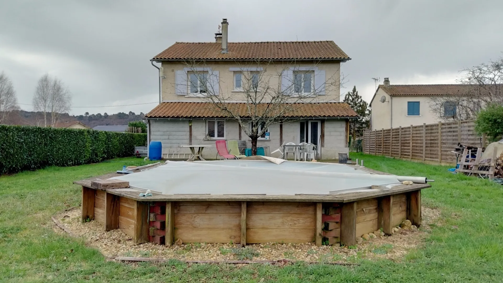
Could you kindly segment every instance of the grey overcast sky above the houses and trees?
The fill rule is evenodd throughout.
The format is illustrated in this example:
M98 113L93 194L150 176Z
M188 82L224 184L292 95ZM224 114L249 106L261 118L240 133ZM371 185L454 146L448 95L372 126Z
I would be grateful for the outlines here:
M500 57L502 13L501 0L0 1L0 72L25 110L49 73L70 89L70 114L146 113L158 101L149 59L175 41L214 41L227 18L230 42L333 40L352 58L341 94L356 85L369 101L373 77L456 83L461 68ZM124 104L136 105L88 107Z

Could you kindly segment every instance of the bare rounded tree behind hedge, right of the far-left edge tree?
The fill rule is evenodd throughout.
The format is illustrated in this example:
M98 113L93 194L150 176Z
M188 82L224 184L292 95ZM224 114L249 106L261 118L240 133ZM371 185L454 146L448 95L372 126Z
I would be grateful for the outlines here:
M44 115L44 127L48 125L48 113L51 114L50 126L55 126L60 113L70 109L70 93L58 78L52 78L49 74L45 74L38 80L33 96L33 105L35 111L40 111Z

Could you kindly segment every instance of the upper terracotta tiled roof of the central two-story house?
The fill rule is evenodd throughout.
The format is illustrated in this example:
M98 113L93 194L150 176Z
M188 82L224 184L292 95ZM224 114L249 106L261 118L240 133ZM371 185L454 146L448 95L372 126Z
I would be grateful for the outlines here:
M333 41L229 42L228 53L221 53L216 42L176 42L155 59L351 59Z

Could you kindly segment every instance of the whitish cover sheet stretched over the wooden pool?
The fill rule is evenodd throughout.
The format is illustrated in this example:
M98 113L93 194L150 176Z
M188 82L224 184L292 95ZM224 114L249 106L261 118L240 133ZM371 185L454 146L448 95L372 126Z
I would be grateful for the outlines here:
M162 194L329 194L399 183L345 164L270 161L166 162L113 179ZM397 179L398 178L398 179Z

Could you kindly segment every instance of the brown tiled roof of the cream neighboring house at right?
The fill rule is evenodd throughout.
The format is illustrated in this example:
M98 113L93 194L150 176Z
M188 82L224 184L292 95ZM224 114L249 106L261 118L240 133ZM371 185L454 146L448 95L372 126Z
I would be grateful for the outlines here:
M467 93L474 85L379 85L389 95L449 95Z

